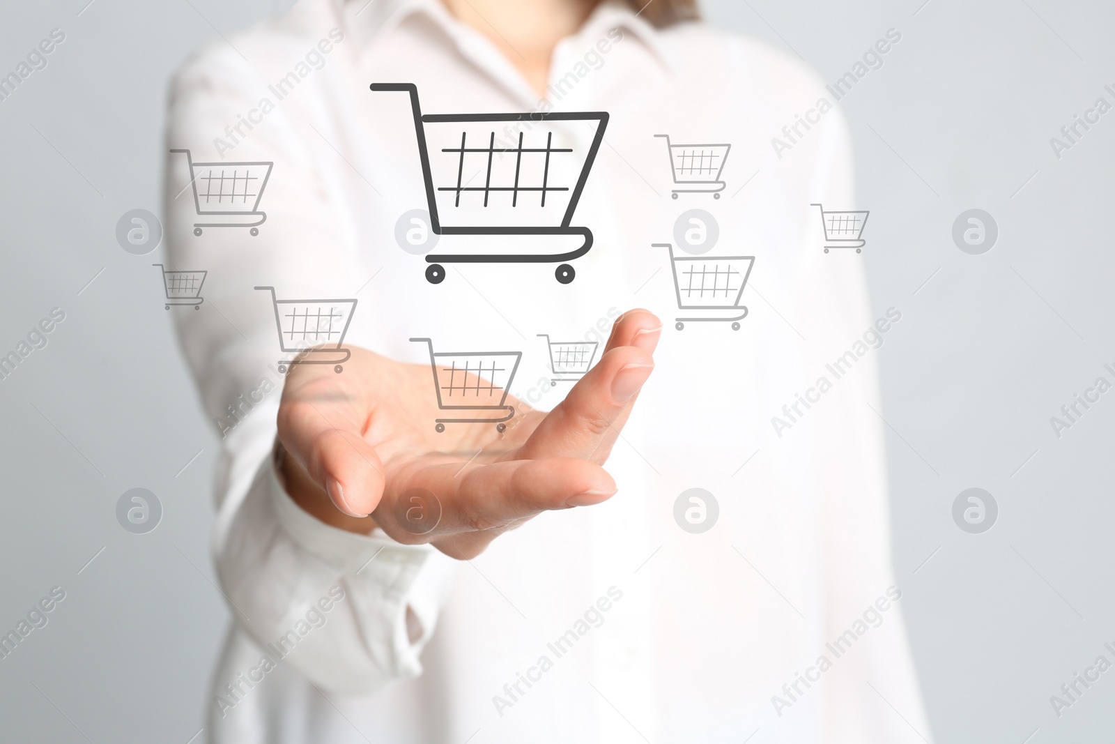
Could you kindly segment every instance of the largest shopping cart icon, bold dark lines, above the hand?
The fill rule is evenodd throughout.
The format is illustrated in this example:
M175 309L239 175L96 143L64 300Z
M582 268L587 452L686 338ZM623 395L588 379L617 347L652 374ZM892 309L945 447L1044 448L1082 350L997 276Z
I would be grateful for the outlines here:
M426 257L430 283L440 283L440 264L452 262L560 263L558 281L573 281L576 272L565 262L592 248L592 232L572 225L573 212L604 137L605 112L424 115L411 83L374 83L371 89L410 96L435 234L583 240L576 250L560 253L432 253ZM580 122L597 126L591 131L566 124ZM546 250L545 242L539 250Z

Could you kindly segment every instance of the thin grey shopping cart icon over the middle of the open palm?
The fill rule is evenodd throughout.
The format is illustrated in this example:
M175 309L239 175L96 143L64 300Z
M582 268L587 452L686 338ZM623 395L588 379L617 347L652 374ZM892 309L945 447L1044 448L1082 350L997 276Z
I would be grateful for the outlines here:
M411 338L429 348L434 369L437 407L454 412L452 418L435 418L440 433L446 424L495 424L497 432L507 431L515 409L507 405L507 388L515 379L522 351L434 351L428 338ZM466 416L465 412L473 412Z

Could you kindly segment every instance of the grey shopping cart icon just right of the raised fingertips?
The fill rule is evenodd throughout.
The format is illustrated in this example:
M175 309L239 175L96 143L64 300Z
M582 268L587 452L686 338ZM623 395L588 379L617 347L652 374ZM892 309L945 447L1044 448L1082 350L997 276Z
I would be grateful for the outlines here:
M701 317L678 318L675 328L681 330L687 322L730 322L731 330L739 330L739 321L747 317L747 307L739 300L752 276L754 255L679 257L673 255L670 243L655 243L653 247L670 252L678 308L701 311ZM719 312L709 315L709 311Z

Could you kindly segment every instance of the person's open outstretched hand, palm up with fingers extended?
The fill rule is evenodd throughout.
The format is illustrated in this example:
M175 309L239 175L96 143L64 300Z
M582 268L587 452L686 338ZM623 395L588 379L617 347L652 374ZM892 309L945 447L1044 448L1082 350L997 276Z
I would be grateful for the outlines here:
M428 365L365 349L353 349L342 375L295 365L279 437L346 513L370 513L399 542L468 558L542 511L614 493L601 465L650 374L660 328L647 311L626 313L600 363L554 410L508 396L515 415L503 433L492 423L435 431L444 412Z

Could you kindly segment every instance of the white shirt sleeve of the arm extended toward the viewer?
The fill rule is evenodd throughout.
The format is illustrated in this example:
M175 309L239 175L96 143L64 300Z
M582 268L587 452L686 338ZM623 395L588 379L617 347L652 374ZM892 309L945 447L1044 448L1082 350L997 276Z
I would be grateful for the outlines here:
M172 309L206 417L222 437L216 573L234 621L261 647L294 632L300 640L284 664L326 689L374 692L421 671L418 655L455 564L378 530L329 526L295 505L277 477L271 454L284 376L271 294L254 288L329 297L353 249L306 146L310 123L290 120L273 100L263 105L273 96L241 52L255 59L266 50L237 47L211 47L173 80L164 184L166 269L206 272L197 310ZM264 187L260 212L252 202ZM215 211L250 214L203 214L214 195L232 203ZM330 589L343 599L327 622L309 625L307 613Z

